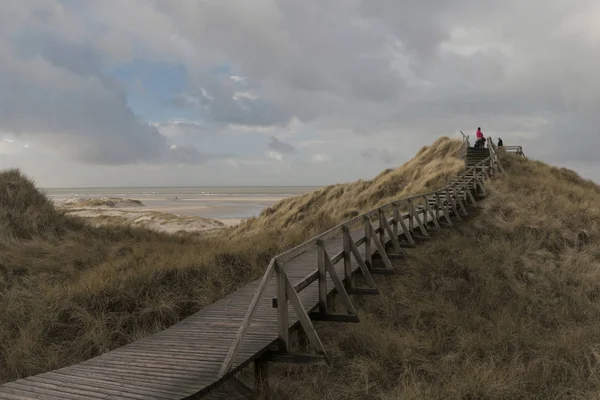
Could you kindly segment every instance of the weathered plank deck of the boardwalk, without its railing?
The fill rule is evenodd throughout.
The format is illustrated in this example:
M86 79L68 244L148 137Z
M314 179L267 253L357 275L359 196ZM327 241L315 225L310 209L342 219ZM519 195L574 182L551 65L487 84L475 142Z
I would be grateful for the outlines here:
M408 219L406 220L408 223ZM416 225L416 224L415 224ZM364 232L352 232L358 241ZM342 251L341 238L326 243L329 254ZM364 248L361 249L363 256ZM294 284L315 270L316 249L286 266ZM343 265L336 265L342 273ZM353 270L358 264L353 262ZM329 278L328 287L334 288ZM218 386L218 373L246 315L259 280L203 308L172 327L80 364L0 386L0 399L182 399ZM232 371L259 357L278 339L274 279L258 305ZM300 293L307 310L319 301L317 282ZM290 327L298 322L289 307ZM233 373L232 372L232 373ZM226 379L227 377L224 377Z

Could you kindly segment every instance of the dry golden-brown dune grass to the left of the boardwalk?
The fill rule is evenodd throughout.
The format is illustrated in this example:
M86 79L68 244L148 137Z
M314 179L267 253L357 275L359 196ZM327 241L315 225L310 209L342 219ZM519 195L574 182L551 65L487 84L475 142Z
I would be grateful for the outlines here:
M443 186L464 168L454 157L459 147L442 138L406 165L344 190L394 196ZM93 227L57 211L21 172L0 173L0 382L148 336L260 277L271 257L343 217L326 215L340 199L322 194L304 196L313 207L293 223L274 213L252 222L261 229L170 236ZM360 205L381 200L370 195Z

